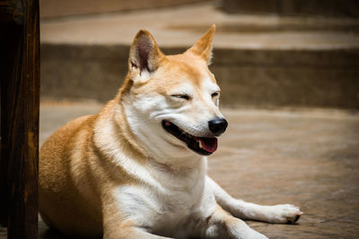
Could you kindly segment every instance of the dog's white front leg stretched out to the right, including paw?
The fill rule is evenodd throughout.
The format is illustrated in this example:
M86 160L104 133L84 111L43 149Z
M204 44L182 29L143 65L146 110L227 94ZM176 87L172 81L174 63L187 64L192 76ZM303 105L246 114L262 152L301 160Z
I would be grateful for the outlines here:
M232 213L234 217L268 223L291 223L297 221L302 215L302 211L299 208L290 204L262 206L234 199L209 176L206 177L206 183L210 185L214 192L215 201L223 209Z

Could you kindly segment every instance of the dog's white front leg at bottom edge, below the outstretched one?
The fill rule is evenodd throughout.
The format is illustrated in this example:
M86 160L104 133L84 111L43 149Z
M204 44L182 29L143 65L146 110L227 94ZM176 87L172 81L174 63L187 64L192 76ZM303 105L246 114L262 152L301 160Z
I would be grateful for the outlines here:
M224 211L217 205L214 213L208 218L197 221L195 232L201 238L241 238L266 239L267 236L258 233L239 218Z

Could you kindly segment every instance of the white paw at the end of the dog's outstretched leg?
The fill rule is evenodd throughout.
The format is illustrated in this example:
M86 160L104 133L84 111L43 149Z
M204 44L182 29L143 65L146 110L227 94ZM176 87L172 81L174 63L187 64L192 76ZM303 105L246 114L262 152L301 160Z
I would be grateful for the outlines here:
M267 222L269 223L294 223L302 216L302 211L291 204L279 204L266 206Z

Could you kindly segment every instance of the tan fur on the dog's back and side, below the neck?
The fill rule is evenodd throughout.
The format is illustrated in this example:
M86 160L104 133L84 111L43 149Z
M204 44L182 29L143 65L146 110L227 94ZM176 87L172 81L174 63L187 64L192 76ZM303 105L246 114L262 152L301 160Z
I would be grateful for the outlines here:
M99 118L113 114L113 104L114 101L110 101L101 110L101 116L87 115L64 125L45 141L40 150L39 206L40 212L46 211L41 215L48 225L71 237L101 235L101 215L112 213L110 206L102 208L112 201L107 194L109 188L114 184L138 183L121 166L107 160L106 152L101 151L93 139L95 124ZM118 128L118 137L121 134ZM131 144L123 145L129 155L141 162L140 150L133 147ZM50 218L56 218L56 221Z

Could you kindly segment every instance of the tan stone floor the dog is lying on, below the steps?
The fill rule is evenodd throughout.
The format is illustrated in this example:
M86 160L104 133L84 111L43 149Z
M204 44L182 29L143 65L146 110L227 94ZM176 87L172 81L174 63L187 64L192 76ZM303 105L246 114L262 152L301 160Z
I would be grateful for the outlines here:
M40 143L97 103L41 105ZM228 192L261 204L292 203L296 225L248 222L270 238L359 235L359 115L338 110L224 108L229 121L209 175ZM40 223L40 238L61 238Z

